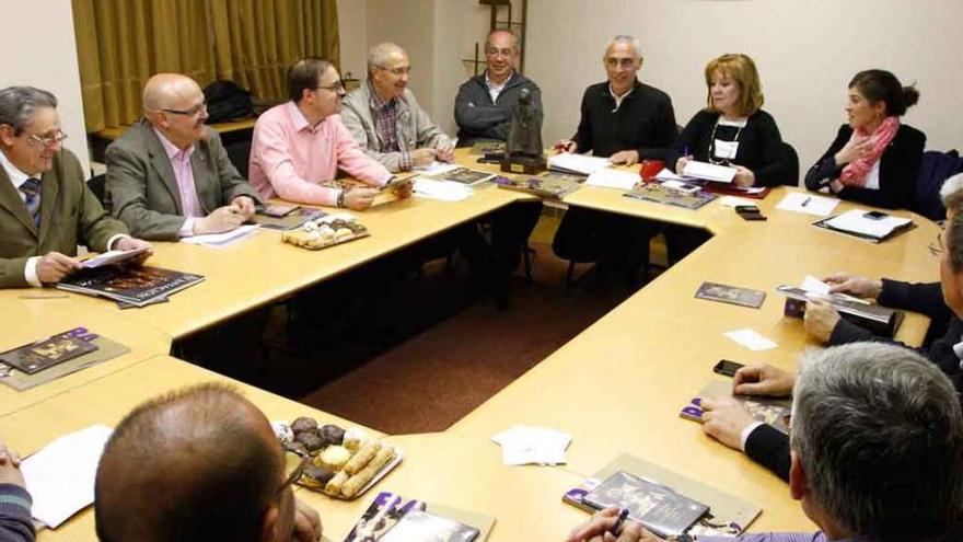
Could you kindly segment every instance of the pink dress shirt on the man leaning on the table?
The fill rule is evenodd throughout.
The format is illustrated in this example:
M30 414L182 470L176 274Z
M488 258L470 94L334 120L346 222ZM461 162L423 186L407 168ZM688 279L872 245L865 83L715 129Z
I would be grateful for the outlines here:
M288 102L265 112L254 125L248 180L265 199L336 205L339 191L318 183L335 178L338 168L378 187L392 177L358 147L340 115L312 129L294 102Z

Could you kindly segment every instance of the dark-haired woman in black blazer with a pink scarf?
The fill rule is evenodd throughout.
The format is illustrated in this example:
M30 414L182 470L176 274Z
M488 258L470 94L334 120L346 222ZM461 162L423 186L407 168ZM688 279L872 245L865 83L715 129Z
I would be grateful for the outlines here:
M885 70L860 71L849 82L846 115L836 140L805 174L805 187L828 188L842 199L909 208L926 134L901 124L919 91Z

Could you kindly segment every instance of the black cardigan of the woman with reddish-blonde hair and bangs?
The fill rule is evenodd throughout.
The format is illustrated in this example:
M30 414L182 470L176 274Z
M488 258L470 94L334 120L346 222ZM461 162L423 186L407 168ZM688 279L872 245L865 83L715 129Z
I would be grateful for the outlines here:
M685 125L678 139L672 146L669 158L670 169L675 169L680 158L691 154L700 162L709 161L709 148L713 146L712 128L719 119L719 113L700 111ZM739 150L732 165L742 165L752 170L756 177L755 186L777 186L779 184L796 185L799 180L792 176L792 166L782 147L782 136L776 120L765 111L750 115L745 127L741 130L733 126L716 128L716 139L734 141L739 132ZM713 157L715 158L715 157Z

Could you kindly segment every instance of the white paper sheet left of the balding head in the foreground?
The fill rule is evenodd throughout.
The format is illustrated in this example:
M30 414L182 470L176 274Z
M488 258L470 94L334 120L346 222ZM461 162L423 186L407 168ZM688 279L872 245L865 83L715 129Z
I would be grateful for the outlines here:
M94 477L113 429L94 425L65 435L23 460L33 517L55 529L94 501Z

